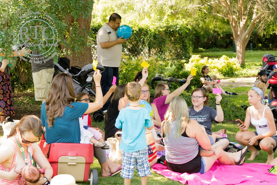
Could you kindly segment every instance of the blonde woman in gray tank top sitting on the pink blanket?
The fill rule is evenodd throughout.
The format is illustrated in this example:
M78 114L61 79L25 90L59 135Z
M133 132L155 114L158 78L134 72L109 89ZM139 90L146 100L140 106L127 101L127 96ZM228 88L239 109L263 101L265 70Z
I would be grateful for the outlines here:
M224 152L222 148L211 149L206 132L202 131L195 120L190 120L187 103L182 97L174 97L162 122L167 167L179 173L205 173L215 160L224 165L241 165L248 147L236 153ZM201 157L199 145L204 150L213 150L215 155Z

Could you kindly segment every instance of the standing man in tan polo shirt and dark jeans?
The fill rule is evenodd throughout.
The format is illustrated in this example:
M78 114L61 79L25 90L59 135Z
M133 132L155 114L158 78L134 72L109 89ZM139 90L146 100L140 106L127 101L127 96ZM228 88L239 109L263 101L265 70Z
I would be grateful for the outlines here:
M117 37L117 29L120 27L121 16L117 13L110 15L109 22L98 30L97 41L97 60L105 71L102 73L101 88L103 96L112 86L113 76L116 77L116 85L119 80L119 65L121 63L122 43L127 39ZM108 109L110 98L103 106L102 110Z

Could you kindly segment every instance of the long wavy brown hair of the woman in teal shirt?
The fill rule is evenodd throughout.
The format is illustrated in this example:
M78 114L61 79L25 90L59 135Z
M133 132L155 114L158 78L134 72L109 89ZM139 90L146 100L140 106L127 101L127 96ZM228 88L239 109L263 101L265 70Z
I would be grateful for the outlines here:
M55 76L45 103L48 126L53 126L56 117L62 117L65 106L73 107L74 97L71 76L66 73Z

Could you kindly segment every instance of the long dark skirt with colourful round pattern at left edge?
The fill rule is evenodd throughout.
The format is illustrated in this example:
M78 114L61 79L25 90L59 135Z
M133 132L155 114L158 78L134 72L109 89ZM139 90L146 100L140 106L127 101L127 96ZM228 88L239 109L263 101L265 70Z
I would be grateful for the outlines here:
M0 72L0 115L15 115L10 76L5 72Z

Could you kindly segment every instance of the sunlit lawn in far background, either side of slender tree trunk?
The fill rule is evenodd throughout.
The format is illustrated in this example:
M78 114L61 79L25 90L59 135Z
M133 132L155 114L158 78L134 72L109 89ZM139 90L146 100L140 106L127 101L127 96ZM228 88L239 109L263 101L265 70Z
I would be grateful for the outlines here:
M271 54L276 56L277 51L247 50L245 51L245 63L262 65L263 55L265 54ZM201 57L208 57L208 58L220 58L222 55L226 55L228 57L234 57L234 58L236 57L236 53L233 51L208 51L208 52L193 53L193 55L201 55Z

